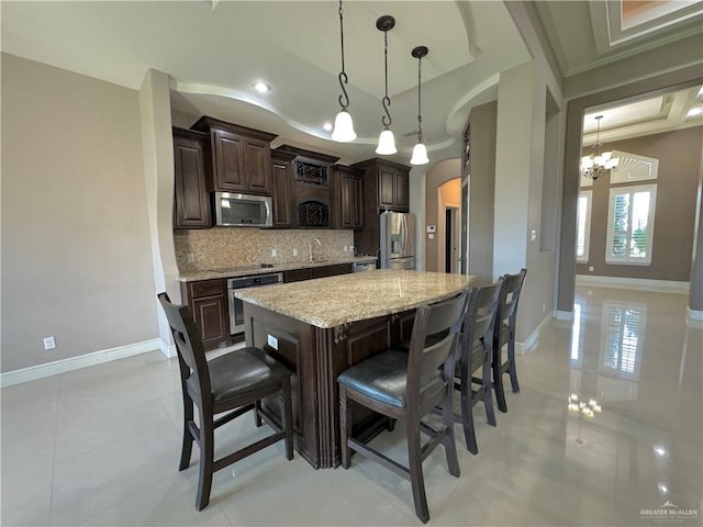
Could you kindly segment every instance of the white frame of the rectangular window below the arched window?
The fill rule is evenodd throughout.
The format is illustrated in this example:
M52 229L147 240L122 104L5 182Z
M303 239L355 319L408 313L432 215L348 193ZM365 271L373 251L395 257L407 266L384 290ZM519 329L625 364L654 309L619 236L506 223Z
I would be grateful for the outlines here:
M650 192L649 194L649 212L647 215L647 238L646 238L646 247L645 254L647 255L644 258L634 257L634 256L613 256L613 242L614 242L614 232L613 226L615 223L615 200L618 194L631 194L634 195L637 192ZM632 200L631 200L632 201ZM650 266L651 265L651 256L652 256L652 247L654 247L654 238L655 238L655 217L656 217L656 209L657 209L657 183L646 183L646 184L628 184L624 187L612 187L610 189L610 197L607 203L607 232L605 239L605 264L615 265L615 266ZM628 213L632 216L632 213ZM627 246L632 244L633 238L633 228L632 228L632 217L628 217L628 229L627 234Z

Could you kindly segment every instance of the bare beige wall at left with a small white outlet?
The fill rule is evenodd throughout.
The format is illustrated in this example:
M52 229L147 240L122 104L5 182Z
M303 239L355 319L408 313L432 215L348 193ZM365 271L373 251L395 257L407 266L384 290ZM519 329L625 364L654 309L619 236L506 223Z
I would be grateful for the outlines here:
M137 92L1 59L1 371L155 338Z

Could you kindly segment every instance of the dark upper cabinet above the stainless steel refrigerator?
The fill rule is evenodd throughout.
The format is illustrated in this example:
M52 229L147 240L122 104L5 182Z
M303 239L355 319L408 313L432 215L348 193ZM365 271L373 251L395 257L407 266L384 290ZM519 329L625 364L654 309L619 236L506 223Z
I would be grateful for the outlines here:
M384 159L369 159L353 165L354 168L364 170L366 186L365 202L367 209L371 200L376 213L381 211L408 212L410 168Z

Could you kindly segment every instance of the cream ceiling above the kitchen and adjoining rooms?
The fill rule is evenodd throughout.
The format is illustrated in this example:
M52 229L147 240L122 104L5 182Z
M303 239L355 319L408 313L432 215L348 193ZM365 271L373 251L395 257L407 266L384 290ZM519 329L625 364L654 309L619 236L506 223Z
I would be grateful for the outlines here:
M702 3L626 1L622 11L620 2L532 5L568 77L701 32ZM681 9L672 11L671 5ZM359 137L339 144L323 130L334 120L341 94L336 1L2 1L0 9L4 53L133 89L140 88L148 68L157 69L171 78L175 124L189 126L208 114L278 134L274 146L306 147L336 155L342 162L376 156L383 115L383 34L376 27L380 15L395 18L388 32L388 90L399 148L392 159L400 162L408 164L415 142L413 47L429 48L422 60L422 120L432 160L460 155L470 109L495 99L500 71L529 59L501 1L347 0L345 69ZM252 88L256 80L270 85L271 91L258 94ZM611 112L602 120L601 138L615 130L673 130L676 121L701 124L685 116L701 105L695 89L636 102L617 112L598 109Z

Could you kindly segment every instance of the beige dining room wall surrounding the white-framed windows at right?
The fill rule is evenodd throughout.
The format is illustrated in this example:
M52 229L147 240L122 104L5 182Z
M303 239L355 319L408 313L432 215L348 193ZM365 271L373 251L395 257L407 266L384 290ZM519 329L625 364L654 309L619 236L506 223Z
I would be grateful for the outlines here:
M659 159L657 180L634 184L657 183L655 237L649 266L620 266L605 264L605 243L610 189L626 187L610 184L610 178L600 178L591 187L591 243L589 262L577 264L577 274L628 277L649 280L688 282L691 276L691 254L698 202L699 168L703 127L680 130L634 139L609 142L609 149L626 152ZM589 267L593 271L589 271Z

